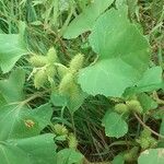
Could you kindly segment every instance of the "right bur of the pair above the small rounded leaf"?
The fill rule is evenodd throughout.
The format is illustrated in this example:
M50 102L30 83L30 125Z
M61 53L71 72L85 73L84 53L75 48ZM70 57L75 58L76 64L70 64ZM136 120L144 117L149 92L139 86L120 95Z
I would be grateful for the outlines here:
M129 110L141 114L143 112L143 108L140 104L139 101L132 99L132 101L128 101L126 102Z

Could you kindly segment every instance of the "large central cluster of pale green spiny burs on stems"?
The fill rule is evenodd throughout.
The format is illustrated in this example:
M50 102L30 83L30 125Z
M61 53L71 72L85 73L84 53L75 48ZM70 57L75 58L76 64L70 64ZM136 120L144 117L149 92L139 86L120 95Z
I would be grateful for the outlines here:
M59 94L72 97L77 96L80 89L75 80L78 71L83 67L83 55L75 55L70 61L69 67L66 67L58 61L56 50L50 48L46 56L32 56L30 62L35 69L34 86L36 89L40 89L49 82L54 89L58 85L57 90ZM59 84L56 84L55 75L59 75Z

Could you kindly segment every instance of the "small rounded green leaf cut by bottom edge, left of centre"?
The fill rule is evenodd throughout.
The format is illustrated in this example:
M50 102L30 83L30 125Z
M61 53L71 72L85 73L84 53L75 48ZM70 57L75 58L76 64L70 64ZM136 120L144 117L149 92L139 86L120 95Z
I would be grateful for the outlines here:
M57 164L82 164L83 155L73 149L63 149L57 154Z

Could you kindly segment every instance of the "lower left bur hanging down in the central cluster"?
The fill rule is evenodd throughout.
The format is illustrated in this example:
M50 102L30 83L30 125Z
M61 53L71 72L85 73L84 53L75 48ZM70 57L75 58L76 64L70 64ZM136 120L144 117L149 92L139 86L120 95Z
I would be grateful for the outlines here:
M44 69L38 70L34 74L34 86L36 89L40 89L45 84L46 81L47 81L47 74Z

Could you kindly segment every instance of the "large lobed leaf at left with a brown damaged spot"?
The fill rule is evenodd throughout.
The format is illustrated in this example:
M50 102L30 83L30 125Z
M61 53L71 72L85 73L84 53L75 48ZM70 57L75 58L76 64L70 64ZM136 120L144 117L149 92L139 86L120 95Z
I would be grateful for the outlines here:
M24 71L19 69L8 80L0 81L0 140L39 134L50 122L52 108L49 104L32 109L23 103L24 78Z

